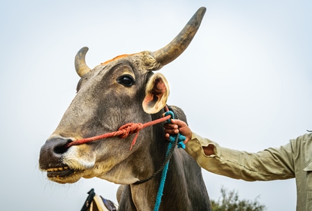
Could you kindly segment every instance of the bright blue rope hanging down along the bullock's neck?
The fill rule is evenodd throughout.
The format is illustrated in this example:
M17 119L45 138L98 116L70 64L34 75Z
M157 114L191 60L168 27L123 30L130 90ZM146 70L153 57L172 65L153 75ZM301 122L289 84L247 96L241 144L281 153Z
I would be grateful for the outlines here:
M173 111L167 111L165 113L165 116L171 115L171 119L175 118L175 114L173 113ZM171 119L168 119L167 122L171 122ZM166 152L166 156L168 156L168 153L170 152L171 147L173 146L173 143L175 143L175 140L177 139L177 148L183 148L185 149L185 145L183 143L183 141L185 140L185 136L181 135L180 133L174 136L169 136L169 145L167 148L167 152ZM160 180L160 184L159 184L159 188L158 188L158 192L157 192L157 197L156 197L156 202L155 202L155 207L154 207L154 211L158 211L159 210L159 205L160 202L162 201L162 192L164 192L164 183L166 181L166 176L167 176L167 172L168 172L168 166L169 166L169 160L166 163L164 169L162 170L162 178Z

